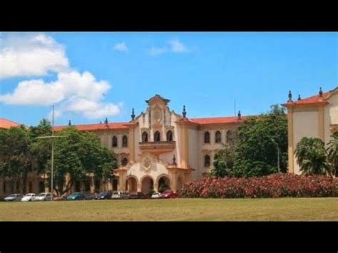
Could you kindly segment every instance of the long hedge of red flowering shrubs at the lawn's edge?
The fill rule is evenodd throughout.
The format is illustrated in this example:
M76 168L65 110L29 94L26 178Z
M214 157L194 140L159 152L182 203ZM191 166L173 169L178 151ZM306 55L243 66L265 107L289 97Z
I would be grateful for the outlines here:
M277 173L264 177L203 177L185 183L181 197L333 197L337 180Z

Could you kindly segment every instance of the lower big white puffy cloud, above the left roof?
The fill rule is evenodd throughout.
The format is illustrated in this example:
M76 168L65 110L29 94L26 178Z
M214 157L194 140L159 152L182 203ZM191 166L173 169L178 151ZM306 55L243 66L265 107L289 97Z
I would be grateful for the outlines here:
M58 103L55 116L63 112L81 113L87 118L102 118L118 115L121 105L102 103L103 93L111 85L106 81L96 81L89 72L69 71L58 73L56 81L22 81L13 93L0 95L0 102L16 105L52 105Z

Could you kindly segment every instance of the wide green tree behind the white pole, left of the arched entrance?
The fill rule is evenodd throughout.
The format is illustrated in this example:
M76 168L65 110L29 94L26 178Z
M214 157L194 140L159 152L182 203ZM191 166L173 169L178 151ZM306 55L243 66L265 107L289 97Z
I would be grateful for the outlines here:
M79 132L70 126L58 132L63 138L54 140L54 190L58 195L67 192L78 180L88 180L88 173L93 172L97 178L104 180L113 177L112 170L117 167L116 158L111 150L103 148L100 140L94 133ZM51 140L38 140L35 147L37 153L42 153L45 158L41 162L41 173L51 176L51 157L44 156L47 143ZM66 184L66 176L69 176Z

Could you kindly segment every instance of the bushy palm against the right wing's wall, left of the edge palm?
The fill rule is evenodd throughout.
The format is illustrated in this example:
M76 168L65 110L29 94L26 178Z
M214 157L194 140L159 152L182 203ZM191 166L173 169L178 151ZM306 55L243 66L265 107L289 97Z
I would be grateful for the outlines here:
M302 138L295 150L300 171L304 175L332 175L324 142L319 138Z

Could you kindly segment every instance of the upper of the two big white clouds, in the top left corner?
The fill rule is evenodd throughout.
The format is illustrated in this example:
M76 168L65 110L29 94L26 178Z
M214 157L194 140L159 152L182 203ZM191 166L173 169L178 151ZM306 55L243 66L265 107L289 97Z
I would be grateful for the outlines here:
M64 47L43 33L2 36L0 79L14 76L43 76L68 68Z

